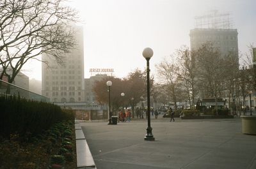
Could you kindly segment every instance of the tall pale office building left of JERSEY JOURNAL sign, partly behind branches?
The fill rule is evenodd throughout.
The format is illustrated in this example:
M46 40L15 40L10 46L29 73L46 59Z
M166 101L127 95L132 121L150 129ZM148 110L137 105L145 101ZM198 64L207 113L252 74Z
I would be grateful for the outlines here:
M84 102L84 45L83 27L76 29L77 46L63 54L63 66L56 64L49 55L42 60L49 62L51 69L42 63L42 95L52 102Z

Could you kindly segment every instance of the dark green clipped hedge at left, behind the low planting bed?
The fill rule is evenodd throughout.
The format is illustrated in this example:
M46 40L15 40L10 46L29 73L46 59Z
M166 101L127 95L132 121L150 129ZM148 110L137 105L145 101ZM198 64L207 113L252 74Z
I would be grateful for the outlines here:
M31 101L19 96L0 96L0 136L38 135L59 121L74 119L72 111L62 111L52 103Z

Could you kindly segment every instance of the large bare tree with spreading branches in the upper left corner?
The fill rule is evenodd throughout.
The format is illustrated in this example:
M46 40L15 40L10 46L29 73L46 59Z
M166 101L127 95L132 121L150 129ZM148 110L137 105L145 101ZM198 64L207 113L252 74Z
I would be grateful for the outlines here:
M74 48L71 24L77 22L77 13L64 2L0 1L0 79L6 76L12 83L22 66L40 54L52 55L60 64L62 54Z

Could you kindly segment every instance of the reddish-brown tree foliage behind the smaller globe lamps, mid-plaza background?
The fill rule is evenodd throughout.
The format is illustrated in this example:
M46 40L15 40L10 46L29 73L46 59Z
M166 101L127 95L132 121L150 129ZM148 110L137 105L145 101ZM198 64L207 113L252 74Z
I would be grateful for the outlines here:
M93 91L97 101L101 104L108 104L108 86L106 82L110 80L111 109L113 112L120 107L130 107L140 102L140 97L146 95L145 73L140 70L135 70L124 78L107 77L103 80L95 82ZM121 96L124 92L125 96ZM133 100L131 99L133 98Z

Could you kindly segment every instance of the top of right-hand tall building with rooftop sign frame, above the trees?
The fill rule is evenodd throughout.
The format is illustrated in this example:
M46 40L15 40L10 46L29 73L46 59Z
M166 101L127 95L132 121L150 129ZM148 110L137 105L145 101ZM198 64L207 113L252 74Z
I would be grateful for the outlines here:
M195 29L189 33L191 50L211 42L225 56L232 53L238 59L237 29L232 29L229 13L209 11L206 15L195 17Z

